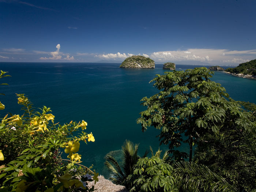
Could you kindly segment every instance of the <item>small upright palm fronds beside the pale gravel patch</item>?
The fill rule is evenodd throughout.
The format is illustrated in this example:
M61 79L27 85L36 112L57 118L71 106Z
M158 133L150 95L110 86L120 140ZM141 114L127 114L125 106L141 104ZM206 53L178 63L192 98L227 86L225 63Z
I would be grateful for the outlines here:
M113 176L110 177L110 180L114 184L124 185L129 188L129 182L127 177L132 174L133 166L137 163L138 156L138 147L139 144L133 144L129 140L125 140L124 145L122 146L123 162L118 163L116 159L111 155L106 155L105 165L112 172ZM144 156L146 156L147 152Z

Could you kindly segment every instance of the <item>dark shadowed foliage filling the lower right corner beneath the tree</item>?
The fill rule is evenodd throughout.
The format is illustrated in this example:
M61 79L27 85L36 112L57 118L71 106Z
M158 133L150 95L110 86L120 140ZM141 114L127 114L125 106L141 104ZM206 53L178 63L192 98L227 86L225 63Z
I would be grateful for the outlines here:
M254 109L253 106L255 104L246 108ZM253 191L256 190L256 118L252 112L243 113L251 114L248 119L252 123L247 129L234 126L218 134L204 135L204 142L197 146L194 160L220 173L238 191Z

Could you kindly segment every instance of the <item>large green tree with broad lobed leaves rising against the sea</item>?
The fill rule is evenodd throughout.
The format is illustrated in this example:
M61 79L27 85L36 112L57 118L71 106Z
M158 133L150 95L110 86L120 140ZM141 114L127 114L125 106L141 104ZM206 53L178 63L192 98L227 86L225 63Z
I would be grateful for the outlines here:
M159 93L141 100L147 109L140 112L137 123L143 132L151 126L161 129L160 144L169 144L176 160L192 161L193 145L203 142L200 138L207 133L252 125L240 105L227 101L225 88L209 79L212 74L201 67L156 75L151 82ZM181 142L189 144L189 153L176 149Z

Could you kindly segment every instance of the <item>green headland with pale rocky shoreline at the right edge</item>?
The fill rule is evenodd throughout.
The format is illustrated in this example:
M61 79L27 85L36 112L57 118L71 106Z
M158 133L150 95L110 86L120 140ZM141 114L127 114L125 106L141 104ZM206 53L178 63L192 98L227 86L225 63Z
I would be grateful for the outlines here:
M235 68L227 68L225 72L242 78L256 79L256 59L241 63Z

